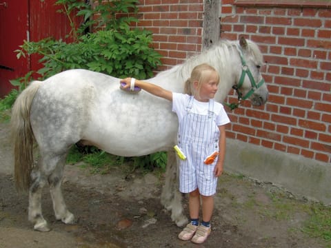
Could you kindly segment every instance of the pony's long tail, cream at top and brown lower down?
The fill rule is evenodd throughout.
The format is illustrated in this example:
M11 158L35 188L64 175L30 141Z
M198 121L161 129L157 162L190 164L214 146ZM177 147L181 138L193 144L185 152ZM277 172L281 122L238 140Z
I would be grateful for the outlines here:
M30 107L41 83L41 81L32 82L19 94L12 107L10 127L14 149L14 179L19 192L26 191L30 187L34 141L30 123Z

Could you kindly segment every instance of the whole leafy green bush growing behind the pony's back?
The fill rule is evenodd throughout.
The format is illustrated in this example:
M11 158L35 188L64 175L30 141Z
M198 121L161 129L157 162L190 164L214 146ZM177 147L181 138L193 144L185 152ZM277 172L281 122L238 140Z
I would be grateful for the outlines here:
M152 33L147 30L131 29L130 22L137 21L133 17L117 18L116 13L129 14L137 12L136 0L103 1L92 10L85 3L73 0L57 1L63 6L63 13L68 18L76 9L84 19L91 16L99 18L88 21L89 26L103 27L97 32L81 34L83 28L70 32L74 42L66 43L52 38L37 42L24 41L21 50L17 50L17 58L26 54L40 54L39 62L43 64L38 73L40 79L48 78L63 70L83 68L95 72L103 72L116 77L134 76L146 79L153 76L153 69L161 65L161 55L152 44ZM99 13L98 15L95 15ZM74 28L74 24L72 24Z

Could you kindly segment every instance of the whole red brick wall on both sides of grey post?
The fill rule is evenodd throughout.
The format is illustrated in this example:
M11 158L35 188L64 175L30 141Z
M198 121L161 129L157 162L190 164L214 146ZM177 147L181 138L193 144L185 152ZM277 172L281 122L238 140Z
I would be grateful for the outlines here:
M201 51L202 0L141 0L139 14L163 55L160 70ZM266 105L245 101L228 113L228 138L330 163L330 1L222 0L221 31L222 39L257 42L270 91Z

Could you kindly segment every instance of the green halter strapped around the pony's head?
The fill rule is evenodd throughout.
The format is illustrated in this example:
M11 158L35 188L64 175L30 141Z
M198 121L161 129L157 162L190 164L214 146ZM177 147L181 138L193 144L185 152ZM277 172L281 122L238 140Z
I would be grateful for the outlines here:
M261 85L263 85L263 83L264 83L264 79L261 79L259 81L259 83L255 82L252 72L250 72L250 68L248 68L248 65L247 65L245 59L243 59L243 52L239 46L237 47L237 50L240 55L241 67L243 68L243 70L241 71L241 76L240 76L238 84L232 86L232 89L237 92L238 103L230 103L230 104L224 103L224 105L230 107L231 110L235 110L237 107L239 107L241 100L248 99L250 96L252 96L254 91L259 89L259 87L261 87ZM241 86L243 86L243 81L245 80L246 74L247 74L248 78L250 79L250 84L252 85L252 88L250 89L249 92L247 92L247 94L245 94L245 96L243 96L243 94L241 92L239 92L239 89L241 88Z

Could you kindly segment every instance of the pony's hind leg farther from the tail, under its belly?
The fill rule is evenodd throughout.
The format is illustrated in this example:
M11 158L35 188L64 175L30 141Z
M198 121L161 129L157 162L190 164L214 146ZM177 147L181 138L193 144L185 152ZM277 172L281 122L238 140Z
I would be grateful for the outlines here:
M48 177L48 183L50 183L50 196L52 197L55 218L65 224L72 224L74 223L74 215L68 211L61 191L65 163L66 155L61 157L56 169Z

